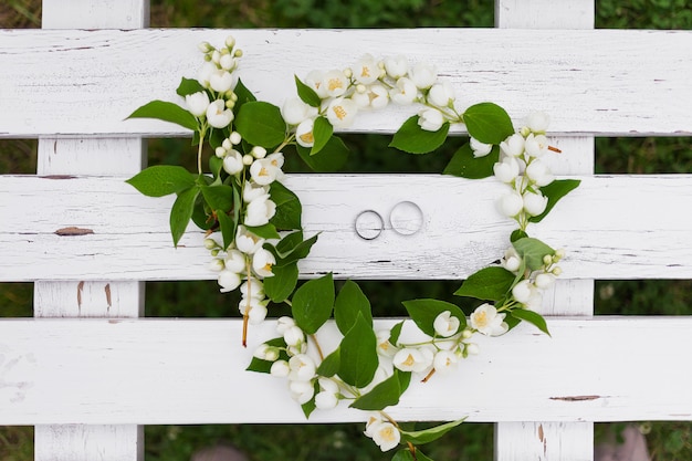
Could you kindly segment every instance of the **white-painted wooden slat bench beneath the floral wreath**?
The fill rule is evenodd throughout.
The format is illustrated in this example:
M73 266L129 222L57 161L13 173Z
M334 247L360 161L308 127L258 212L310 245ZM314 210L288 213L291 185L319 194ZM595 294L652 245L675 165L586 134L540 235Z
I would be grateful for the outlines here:
M36 317L0 322L0 425L34 425L36 460L141 460L143 425L302 422L283 384L242 371L251 353L234 340L240 322L137 318L143 281L212 274L201 232L190 228L174 249L166 199L124 182L143 167L143 137L186 133L124 118L171 99L196 72L197 43L229 31L138 30L146 0L97 3L44 0L45 30L0 31L0 137L40 139L35 176L0 177L0 281L34 282ZM692 420L692 318L591 316L594 279L692 277L692 177L593 176L593 136L692 134L692 33L588 30L593 0L497 0L496 18L501 30L232 33L245 50L243 78L275 104L293 93L294 73L403 53L437 64L462 102L494 101L516 118L551 114L564 153L553 169L583 179L536 229L568 255L544 306L556 316L553 337L527 327L483 342L463 380L433 379L391 415L497 422L497 460L589 460L594 421ZM354 130L392 133L405 117L392 108ZM493 181L434 181L289 178L306 230L324 231L302 274L463 279L496 259L512 229L490 206ZM423 231L355 234L360 211L386 217L407 200L421 208ZM271 328L253 331L249 350Z

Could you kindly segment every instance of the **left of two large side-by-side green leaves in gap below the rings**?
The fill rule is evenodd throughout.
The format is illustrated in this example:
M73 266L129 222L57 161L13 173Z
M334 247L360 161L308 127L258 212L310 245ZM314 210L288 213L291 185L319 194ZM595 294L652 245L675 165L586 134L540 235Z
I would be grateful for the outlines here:
M334 280L332 273L304 283L293 295L291 312L295 324L313 335L332 315Z

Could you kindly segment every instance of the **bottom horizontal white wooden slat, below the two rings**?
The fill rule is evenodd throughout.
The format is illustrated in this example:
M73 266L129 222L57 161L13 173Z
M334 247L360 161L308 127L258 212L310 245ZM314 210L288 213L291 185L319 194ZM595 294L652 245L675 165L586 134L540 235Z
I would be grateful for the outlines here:
M384 325L394 319L376 328ZM452 375L413 381L392 417L692 418L692 377L675 353L692 348L692 318L551 318L548 325L552 337L531 325L480 337L480 355ZM285 380L244 371L253 349L276 336L274 326L252 327L243 349L239 319L2 321L0 425L305 421ZM338 337L333 324L327 329L318 332L325 350ZM405 326L402 337L410 333ZM343 409L316 411L311 421L364 418Z

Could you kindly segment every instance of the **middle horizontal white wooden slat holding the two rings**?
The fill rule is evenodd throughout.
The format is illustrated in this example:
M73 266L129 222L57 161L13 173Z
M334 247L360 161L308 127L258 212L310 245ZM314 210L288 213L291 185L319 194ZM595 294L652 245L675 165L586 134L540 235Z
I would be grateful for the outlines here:
M189 231L174 249L171 198L143 197L124 179L2 177L0 280L213 279L202 232ZM692 209L691 176L581 179L541 226L530 228L567 251L565 279L692 276L692 221L684 212ZM495 211L503 186L492 178L313 175L289 177L286 185L303 201L306 235L322 232L302 265L305 276L333 271L355 279L463 279L495 261L514 229ZM411 235L388 223L402 201L422 211L422 229ZM364 210L379 212L386 223L375 240L355 233ZM93 233L55 233L69 228Z

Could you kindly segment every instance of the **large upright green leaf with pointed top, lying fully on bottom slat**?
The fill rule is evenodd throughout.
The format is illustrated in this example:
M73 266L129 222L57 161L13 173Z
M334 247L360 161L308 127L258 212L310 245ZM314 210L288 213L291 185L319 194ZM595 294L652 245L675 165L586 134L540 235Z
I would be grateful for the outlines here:
M379 364L377 357L377 338L373 326L358 313L356 323L346 333L340 349L338 376L344 383L356 387L365 387L373 381Z

